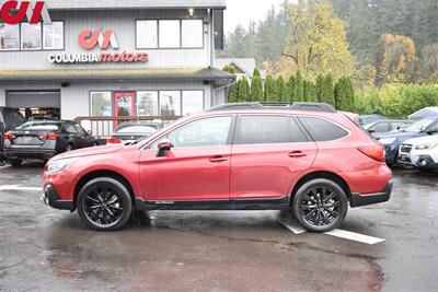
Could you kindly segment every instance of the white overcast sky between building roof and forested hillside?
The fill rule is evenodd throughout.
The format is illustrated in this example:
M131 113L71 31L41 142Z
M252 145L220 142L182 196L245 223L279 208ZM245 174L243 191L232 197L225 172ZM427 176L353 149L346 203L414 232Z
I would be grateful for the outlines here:
M239 23L247 27L251 20L262 20L272 5L278 7L283 0L227 0L224 12L226 32L233 31Z

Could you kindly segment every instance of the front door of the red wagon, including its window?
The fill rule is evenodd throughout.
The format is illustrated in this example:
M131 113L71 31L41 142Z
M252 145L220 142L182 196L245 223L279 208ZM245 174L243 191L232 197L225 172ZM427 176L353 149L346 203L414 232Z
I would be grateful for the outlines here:
M173 148L158 157L158 142L141 153L140 182L148 201L226 201L230 188L232 116L203 118L160 138ZM159 140L160 140L159 139Z

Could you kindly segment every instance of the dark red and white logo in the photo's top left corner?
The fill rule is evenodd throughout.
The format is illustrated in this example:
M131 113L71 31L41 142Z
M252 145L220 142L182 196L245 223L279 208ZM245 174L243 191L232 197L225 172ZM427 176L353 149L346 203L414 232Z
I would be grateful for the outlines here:
M50 15L44 1L0 1L0 21L8 24L19 24L25 16L28 23L37 24L42 19L45 23L51 23Z

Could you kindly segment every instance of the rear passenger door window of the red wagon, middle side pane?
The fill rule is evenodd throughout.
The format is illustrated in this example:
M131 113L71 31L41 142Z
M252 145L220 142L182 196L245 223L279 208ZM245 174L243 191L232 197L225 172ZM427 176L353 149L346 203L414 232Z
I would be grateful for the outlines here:
M242 116L234 144L272 144L307 141L297 124L286 116Z

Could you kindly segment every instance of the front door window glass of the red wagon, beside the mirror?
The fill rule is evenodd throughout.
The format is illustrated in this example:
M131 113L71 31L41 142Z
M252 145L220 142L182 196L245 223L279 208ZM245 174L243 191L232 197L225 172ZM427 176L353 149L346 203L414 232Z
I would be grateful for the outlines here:
M226 145L232 117L205 118L186 124L168 135L174 148ZM158 141L151 145L157 149Z

